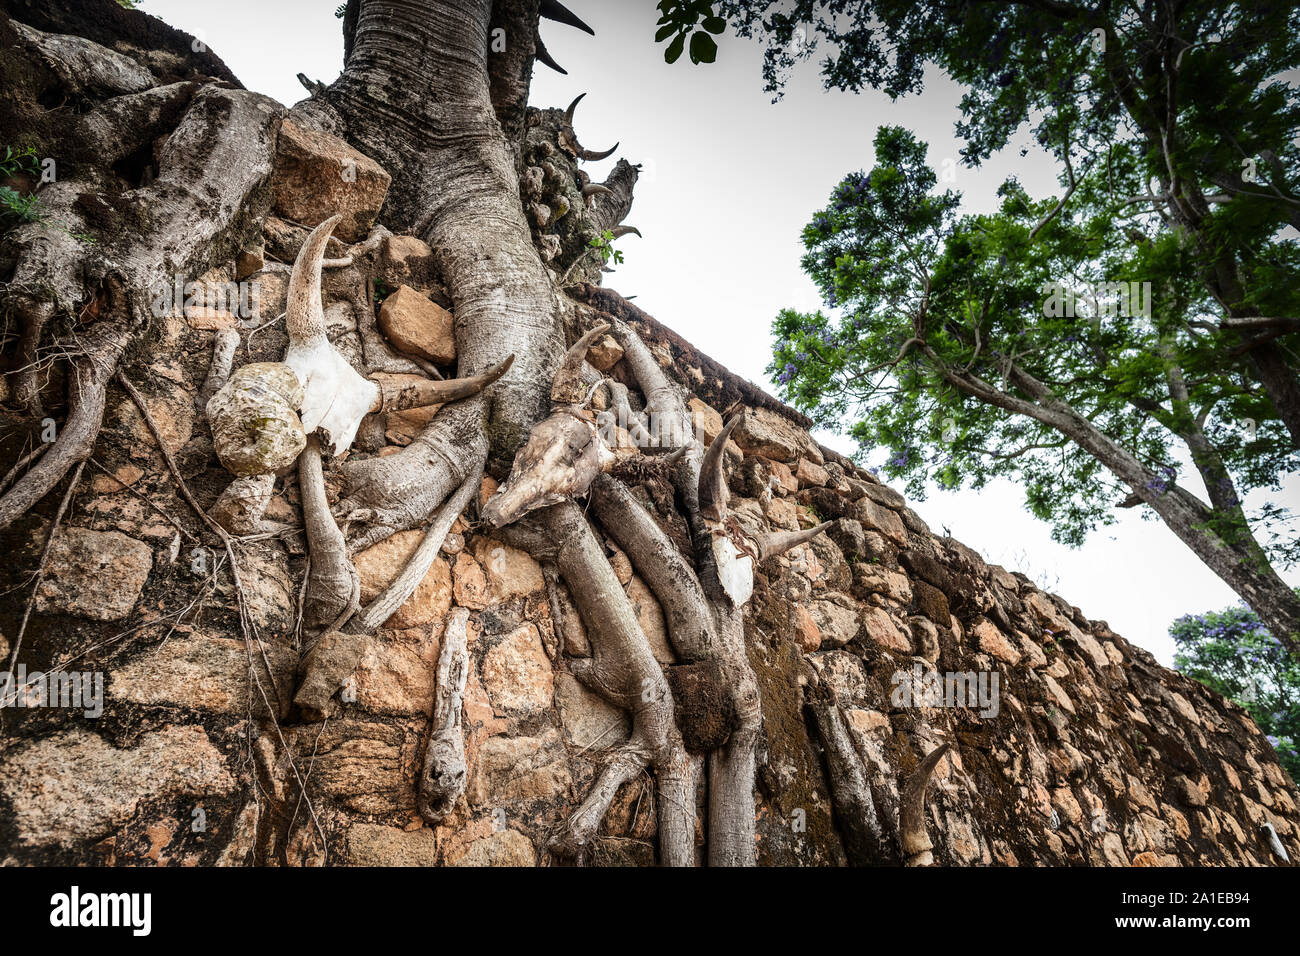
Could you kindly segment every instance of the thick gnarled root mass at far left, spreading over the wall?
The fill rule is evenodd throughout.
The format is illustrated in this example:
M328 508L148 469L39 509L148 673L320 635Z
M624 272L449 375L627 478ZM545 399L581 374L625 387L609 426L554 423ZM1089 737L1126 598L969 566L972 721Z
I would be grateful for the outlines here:
M170 286L172 271L205 272L237 222L257 215L247 199L270 174L278 116L265 96L176 83L116 96L73 120L68 135L84 155L103 163L101 172L108 174L107 164L166 133L182 109L151 183L108 203L94 200L90 182L99 173L91 170L86 181L61 179L40 193L51 221L21 226L6 239L17 252L6 294L25 323L14 389L29 410L39 406L34 363L46 323L55 315L101 317L62 343L75 352L69 360L68 418L55 447L0 498L0 528L90 455L103 424L108 380L131 334L144 328L155 289ZM88 222L82 209L96 208L95 202L140 226L109 229L105 222ZM82 242L77 230L92 232L98 242Z

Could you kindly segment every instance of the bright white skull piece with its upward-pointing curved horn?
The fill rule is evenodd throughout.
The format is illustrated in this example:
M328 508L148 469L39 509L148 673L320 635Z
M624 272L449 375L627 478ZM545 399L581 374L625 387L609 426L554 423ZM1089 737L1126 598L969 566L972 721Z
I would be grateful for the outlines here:
M308 434L325 432L335 455L352 444L361 419L380 398L380 386L352 368L325 334L321 260L339 219L330 216L307 237L294 261L285 308L289 329L285 364L294 369L307 393L299 412L303 429Z

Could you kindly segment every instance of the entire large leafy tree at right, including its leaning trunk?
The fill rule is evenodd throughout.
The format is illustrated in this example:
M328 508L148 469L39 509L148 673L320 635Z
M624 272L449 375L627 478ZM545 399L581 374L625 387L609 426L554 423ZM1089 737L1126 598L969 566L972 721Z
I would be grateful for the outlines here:
M786 399L887 446L913 494L926 479L1015 477L1071 545L1114 507L1147 506L1300 654L1300 601L1270 563L1300 557L1290 515L1242 507L1300 447L1300 261L1280 238L1300 228L1300 98L1284 75L1300 66L1300 9L719 10L767 44L777 95L819 48L841 90L902 96L939 68L966 90L963 164L1028 126L1061 170L1060 198L1009 181L996 213L961 216L922 144L881 130L876 166L846 177L805 230L831 315L777 317L771 372ZM1179 475L1186 459L1200 481Z

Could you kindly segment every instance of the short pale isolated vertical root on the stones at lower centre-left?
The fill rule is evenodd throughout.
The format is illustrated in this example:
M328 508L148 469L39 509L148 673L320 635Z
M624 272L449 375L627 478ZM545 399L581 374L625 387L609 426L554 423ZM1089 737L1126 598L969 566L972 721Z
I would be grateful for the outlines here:
M442 631L438 678L434 688L433 728L424 754L416 809L429 826L437 826L451 813L465 792L465 728L460 719L469 676L465 626L469 611L456 607Z

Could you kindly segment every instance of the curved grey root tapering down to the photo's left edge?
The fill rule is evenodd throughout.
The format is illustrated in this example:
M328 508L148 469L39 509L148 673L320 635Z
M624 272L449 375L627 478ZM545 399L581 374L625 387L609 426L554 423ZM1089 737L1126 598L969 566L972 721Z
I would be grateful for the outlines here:
M0 497L0 531L44 498L69 468L90 458L104 423L108 380L117 371L129 338L125 328L99 330L86 337L86 351L69 362L68 418L53 447Z

